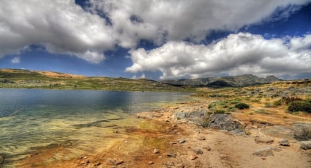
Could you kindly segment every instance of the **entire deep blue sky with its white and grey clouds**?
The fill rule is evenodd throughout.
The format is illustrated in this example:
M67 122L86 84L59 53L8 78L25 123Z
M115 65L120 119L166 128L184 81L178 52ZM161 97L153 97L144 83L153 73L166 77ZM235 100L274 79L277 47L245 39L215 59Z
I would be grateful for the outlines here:
M0 68L311 78L311 0L0 0Z

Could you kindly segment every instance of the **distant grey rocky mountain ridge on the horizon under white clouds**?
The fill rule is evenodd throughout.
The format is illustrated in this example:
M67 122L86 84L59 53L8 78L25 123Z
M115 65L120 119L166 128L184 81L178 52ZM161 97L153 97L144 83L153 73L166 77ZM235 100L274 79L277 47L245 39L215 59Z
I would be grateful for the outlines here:
M252 74L243 74L239 76L179 79L162 82L175 86L187 85L196 87L244 87L251 85L262 85L272 83L274 81L281 81L281 80L279 78L276 78L275 76L267 76L266 78L259 78Z

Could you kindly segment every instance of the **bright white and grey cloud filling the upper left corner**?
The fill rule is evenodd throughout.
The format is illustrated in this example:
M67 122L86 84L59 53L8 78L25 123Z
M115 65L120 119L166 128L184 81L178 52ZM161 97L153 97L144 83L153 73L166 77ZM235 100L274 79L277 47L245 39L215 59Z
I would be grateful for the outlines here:
M111 28L97 14L74 1L1 1L0 55L18 54L31 44L48 52L72 54L98 63L103 50L113 48Z

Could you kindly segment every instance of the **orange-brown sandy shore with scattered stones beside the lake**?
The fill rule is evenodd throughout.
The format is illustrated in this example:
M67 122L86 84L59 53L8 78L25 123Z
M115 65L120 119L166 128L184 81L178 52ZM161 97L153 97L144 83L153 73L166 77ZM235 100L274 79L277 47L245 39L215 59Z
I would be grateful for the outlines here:
M176 112L208 110L208 103L196 101L176 104L154 112L137 114L138 117L144 118L141 126L126 127L122 132L115 132L126 134L126 138L115 142L115 145L100 154L85 154L66 160L66 152L69 152L69 149L66 146L58 146L41 149L38 154L30 154L28 158L21 160L19 165L21 167L311 167L311 150L300 149L299 142L290 134L284 132L271 134L276 125L252 123L251 118L245 118L237 113L234 115L238 119L241 118L247 133L238 135L203 128L189 120L176 118ZM303 118L296 120L301 122ZM304 121L311 123L310 118ZM270 142L256 143L256 137ZM290 146L279 145L281 138L287 138ZM257 149L267 148L272 150L273 156L254 154ZM55 157L56 153L63 154L64 158L46 162L49 158Z

